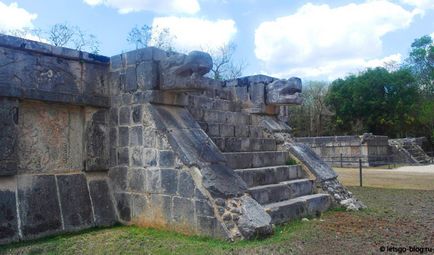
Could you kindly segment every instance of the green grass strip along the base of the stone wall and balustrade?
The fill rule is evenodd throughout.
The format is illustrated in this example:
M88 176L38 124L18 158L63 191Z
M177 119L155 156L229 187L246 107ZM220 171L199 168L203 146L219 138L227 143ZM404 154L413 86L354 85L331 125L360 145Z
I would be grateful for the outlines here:
M239 242L136 226L94 228L0 246L0 254L227 254L288 241L308 225L309 222L294 221L277 226L271 237Z

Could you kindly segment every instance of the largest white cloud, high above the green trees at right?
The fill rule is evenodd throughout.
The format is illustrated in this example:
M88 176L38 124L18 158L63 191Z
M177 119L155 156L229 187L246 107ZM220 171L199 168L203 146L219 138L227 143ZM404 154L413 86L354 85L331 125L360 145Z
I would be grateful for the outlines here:
M308 3L262 23L255 54L269 74L334 78L375 63L382 36L406 28L414 15L385 0L337 8Z

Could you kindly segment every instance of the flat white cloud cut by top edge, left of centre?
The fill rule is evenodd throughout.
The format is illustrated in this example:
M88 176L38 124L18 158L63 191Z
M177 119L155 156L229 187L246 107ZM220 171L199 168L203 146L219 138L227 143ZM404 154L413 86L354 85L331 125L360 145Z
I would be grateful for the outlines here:
M200 10L198 0L84 0L91 6L105 5L126 14L139 11L194 14Z

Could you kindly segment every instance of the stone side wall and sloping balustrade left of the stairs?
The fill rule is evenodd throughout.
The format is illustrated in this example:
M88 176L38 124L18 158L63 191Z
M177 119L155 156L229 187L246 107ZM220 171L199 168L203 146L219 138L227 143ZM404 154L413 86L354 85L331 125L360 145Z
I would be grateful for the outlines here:
M188 57L156 48L112 57L109 176L119 219L189 234L248 238L256 229L246 218L255 210L266 213L244 195L245 183L184 108L186 91L222 90L221 83L205 77L172 77L170 70L185 70ZM241 216L236 212L244 204L253 209ZM235 214L240 222L245 219L243 226L223 220L234 214L231 207L239 208ZM262 224L257 228L271 231L269 222Z

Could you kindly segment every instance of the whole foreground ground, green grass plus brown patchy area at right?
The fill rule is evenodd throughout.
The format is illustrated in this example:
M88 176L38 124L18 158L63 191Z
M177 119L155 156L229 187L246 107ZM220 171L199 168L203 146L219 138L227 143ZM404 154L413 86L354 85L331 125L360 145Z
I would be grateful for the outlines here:
M381 246L434 247L433 190L350 190L368 210L329 211L279 226L264 240L228 243L118 226L0 246L0 254L371 254Z

